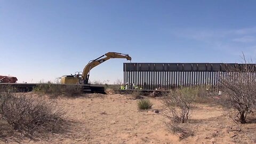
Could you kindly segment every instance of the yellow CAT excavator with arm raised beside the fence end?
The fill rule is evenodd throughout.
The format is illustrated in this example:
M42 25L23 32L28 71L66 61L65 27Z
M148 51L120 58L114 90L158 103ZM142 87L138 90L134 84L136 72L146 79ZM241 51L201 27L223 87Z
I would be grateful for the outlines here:
M108 52L101 57L89 61L89 63L84 67L84 70L82 74L81 72L76 72L75 75L65 75L61 77L61 84L89 84L89 76L90 76L90 70L98 65L100 65L102 62L109 60L111 58L121 58L121 59L127 59L132 60L132 58L129 56L129 54L123 54L123 53L117 53L117 52Z

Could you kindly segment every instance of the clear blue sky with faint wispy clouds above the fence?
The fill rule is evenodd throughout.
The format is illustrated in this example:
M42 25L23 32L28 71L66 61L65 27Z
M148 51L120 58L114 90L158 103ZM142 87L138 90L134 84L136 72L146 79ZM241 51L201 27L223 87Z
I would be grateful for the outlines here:
M0 0L0 75L54 81L106 52L132 62L255 62L256 1ZM91 70L123 79L125 59Z

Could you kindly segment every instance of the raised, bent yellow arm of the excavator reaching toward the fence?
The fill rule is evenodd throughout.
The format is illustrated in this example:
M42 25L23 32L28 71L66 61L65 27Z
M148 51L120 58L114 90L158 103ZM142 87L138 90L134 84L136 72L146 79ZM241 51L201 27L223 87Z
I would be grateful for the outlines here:
M117 53L117 52L108 52L95 60L89 61L89 63L84 67L83 74L82 74L82 81L80 81L80 83L87 84L89 81L90 70L92 68L100 65L100 63L102 63L106 60L109 60L111 58L132 60L132 58L128 54L122 54L122 53Z

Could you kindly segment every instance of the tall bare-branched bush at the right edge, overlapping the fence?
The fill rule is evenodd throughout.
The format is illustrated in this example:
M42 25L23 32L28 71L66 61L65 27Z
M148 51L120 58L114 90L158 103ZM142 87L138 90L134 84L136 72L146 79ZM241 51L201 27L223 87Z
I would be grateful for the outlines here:
M242 124L246 123L247 115L253 114L256 105L256 82L252 75L255 72L244 55L243 59L243 67L229 67L227 76L221 78L221 91L225 95L221 97L221 104L234 122Z

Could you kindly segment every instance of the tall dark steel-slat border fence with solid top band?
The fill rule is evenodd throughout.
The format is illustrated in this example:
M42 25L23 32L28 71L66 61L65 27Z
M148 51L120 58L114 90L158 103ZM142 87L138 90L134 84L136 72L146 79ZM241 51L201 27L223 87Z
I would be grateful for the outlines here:
M217 90L221 77L235 74L233 68L243 69L241 63L123 63L124 83L135 84L143 90L162 88L173 90L186 86L211 86ZM250 76L256 81L256 64Z

